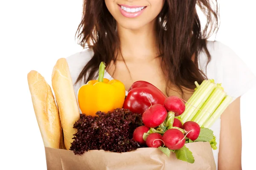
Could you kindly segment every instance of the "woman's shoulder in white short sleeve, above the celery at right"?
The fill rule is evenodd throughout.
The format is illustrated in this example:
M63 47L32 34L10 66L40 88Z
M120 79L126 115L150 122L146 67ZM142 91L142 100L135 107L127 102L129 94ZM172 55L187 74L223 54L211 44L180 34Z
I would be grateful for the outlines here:
M211 56L209 64L206 52L201 51L198 65L208 79L221 83L233 99L253 87L255 75L232 48L219 41L207 41L207 49Z

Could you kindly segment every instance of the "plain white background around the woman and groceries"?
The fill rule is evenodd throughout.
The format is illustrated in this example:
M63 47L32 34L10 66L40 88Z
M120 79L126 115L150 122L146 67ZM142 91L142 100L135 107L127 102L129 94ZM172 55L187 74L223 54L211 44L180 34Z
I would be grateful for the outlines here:
M233 48L256 74L255 1L219 4L217 40ZM81 9L82 0L0 1L0 169L47 169L26 76L36 70L51 84L57 59L82 49L75 41ZM244 170L255 166L250 156L256 153L255 96L253 89L241 100Z

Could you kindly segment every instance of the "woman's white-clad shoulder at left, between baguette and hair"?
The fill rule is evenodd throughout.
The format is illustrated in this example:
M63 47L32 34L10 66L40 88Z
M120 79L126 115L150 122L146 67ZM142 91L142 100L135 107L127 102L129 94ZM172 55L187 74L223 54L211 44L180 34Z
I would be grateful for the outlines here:
M84 66L92 57L93 51L91 49L86 49L66 58L73 84L76 82L76 79L83 70Z

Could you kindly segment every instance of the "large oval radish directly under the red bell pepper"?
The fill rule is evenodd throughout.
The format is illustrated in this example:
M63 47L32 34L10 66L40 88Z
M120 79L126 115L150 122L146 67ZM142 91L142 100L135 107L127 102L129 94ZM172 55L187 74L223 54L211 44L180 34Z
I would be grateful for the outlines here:
M142 115L142 121L146 127L157 127L161 125L167 117L167 111L160 104L150 106Z

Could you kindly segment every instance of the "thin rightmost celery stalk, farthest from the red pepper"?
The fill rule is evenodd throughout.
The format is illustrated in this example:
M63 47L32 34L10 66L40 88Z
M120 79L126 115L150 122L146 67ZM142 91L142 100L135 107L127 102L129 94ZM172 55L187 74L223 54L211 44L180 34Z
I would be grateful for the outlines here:
M203 124L203 127L210 128L214 122L221 116L221 114L225 111L225 109L230 105L232 102L232 97L226 96L212 116Z

